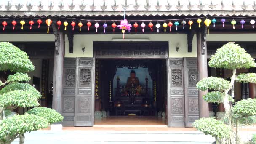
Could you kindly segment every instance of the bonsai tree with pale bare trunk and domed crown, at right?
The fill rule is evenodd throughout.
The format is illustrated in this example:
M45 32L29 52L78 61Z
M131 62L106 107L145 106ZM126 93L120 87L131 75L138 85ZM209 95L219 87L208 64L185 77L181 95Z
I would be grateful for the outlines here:
M230 77L230 81L224 80L219 77L207 77L203 80L200 80L197 83L197 88L201 91L205 91L207 89L213 90L212 92L207 93L203 96L203 99L207 102L217 102L223 103L225 108L225 116L227 119L227 125L230 129L229 131L229 141L227 143L235 143L235 137L237 144L240 143L238 135L235 135L233 131L234 121L233 119L248 117L251 115L255 115L252 110L250 111L250 107L254 104L254 101L246 100L246 103L250 104L250 107L244 107L245 101L238 102L237 106L234 107L233 111L231 109L232 105L232 97L228 94L228 92L233 88L235 80L237 82L250 82L256 83L256 74L240 74L236 76L236 69L240 68L251 68L255 67L256 63L250 54L246 53L246 51L241 48L239 45L235 43L227 43L223 45L221 48L217 49L215 55L213 55L209 61L209 66L214 68L224 68L232 70L232 77ZM243 107L243 108L242 108ZM243 109L241 111L241 109ZM233 112L233 114L232 114ZM248 114L250 113L250 114ZM248 114L248 115L245 115ZM239 115L237 117L237 115ZM213 122L213 121L208 121ZM239 120L237 120L239 122ZM197 121L196 128L199 128L199 121ZM211 127L211 125L209 125ZM239 125L237 125L237 128ZM212 128L210 128L212 129ZM198 129L202 131L202 129ZM205 133L205 131L203 131ZM210 132L205 134L211 134Z

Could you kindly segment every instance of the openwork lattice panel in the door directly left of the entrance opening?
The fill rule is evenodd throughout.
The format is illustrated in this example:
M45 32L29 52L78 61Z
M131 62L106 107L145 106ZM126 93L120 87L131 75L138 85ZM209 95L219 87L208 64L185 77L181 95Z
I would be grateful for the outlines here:
M80 69L80 86L91 86L91 69Z

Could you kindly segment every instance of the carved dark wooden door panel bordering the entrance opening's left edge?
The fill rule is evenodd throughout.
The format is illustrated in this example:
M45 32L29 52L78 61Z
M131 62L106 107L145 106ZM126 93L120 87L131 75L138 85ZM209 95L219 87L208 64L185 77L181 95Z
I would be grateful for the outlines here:
M94 58L77 58L75 126L94 124Z

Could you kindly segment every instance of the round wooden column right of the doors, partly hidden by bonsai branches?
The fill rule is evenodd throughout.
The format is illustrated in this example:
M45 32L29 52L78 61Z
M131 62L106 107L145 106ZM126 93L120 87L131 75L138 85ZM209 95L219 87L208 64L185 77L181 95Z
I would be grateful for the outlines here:
M206 27L205 30L197 31L197 64L198 64L198 81L208 77L207 72L207 49L206 49ZM198 91L199 118L209 117L209 106L203 100L203 95L208 91Z

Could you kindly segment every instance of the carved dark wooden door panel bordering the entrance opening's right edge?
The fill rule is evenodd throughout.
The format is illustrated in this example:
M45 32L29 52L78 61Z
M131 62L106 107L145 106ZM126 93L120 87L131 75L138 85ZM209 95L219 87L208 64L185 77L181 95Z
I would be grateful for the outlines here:
M167 59L168 126L184 127L184 77L183 59Z

